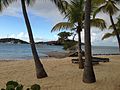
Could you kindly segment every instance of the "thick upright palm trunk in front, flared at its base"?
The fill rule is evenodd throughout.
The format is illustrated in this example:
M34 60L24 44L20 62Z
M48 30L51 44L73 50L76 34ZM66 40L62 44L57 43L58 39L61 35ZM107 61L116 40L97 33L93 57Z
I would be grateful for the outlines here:
M86 0L85 4L85 64L83 73L83 82L93 83L96 82L91 54L91 35L90 35L90 13L91 13L91 0Z

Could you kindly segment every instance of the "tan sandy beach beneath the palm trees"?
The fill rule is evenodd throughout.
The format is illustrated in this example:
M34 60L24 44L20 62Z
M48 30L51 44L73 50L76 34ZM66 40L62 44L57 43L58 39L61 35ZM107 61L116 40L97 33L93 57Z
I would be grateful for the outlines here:
M99 57L110 58L110 62L94 66L97 82L93 84L82 82L83 70L71 63L72 57L42 59L48 73L44 79L36 78L33 60L0 61L0 89L15 80L25 88L40 84L41 90L120 90L120 55Z

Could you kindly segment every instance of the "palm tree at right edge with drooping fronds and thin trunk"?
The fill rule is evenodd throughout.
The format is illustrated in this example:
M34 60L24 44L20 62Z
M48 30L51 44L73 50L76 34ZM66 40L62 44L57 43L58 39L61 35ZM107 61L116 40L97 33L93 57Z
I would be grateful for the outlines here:
M118 0L119 1L119 0ZM118 45L119 45L119 51L120 51L120 36L119 33L116 29L114 20L113 20L113 15L116 14L119 9L116 6L116 1L113 0L105 0L104 4L101 5L94 13L94 17L96 16L97 13L99 13L100 11L103 11L104 13L107 13L110 17L110 21L114 30L114 33L116 35L117 41L118 41Z

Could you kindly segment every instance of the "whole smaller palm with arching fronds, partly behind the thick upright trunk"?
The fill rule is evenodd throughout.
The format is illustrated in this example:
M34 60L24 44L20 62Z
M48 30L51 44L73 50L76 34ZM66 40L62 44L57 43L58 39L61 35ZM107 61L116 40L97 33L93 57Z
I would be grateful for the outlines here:
M83 0L74 0L71 3L68 3L68 7L65 10L65 18L68 19L68 22L60 22L56 24L52 31L60 29L70 29L75 30L78 33L78 58L79 58L79 68L83 68L82 60L82 48L81 48L81 31L84 27L84 1ZM91 26L99 27L104 29L105 22L102 19L95 18L91 19Z

